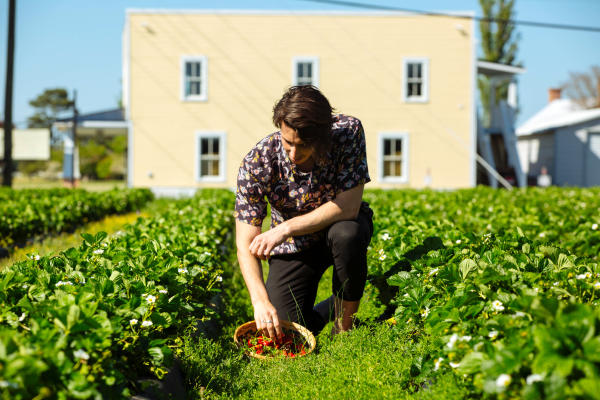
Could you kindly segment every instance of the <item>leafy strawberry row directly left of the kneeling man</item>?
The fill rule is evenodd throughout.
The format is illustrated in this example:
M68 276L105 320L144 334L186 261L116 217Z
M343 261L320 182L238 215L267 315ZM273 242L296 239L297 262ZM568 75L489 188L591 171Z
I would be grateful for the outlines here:
M162 377L184 331L213 312L233 197L203 191L111 237L0 272L3 398L119 398Z

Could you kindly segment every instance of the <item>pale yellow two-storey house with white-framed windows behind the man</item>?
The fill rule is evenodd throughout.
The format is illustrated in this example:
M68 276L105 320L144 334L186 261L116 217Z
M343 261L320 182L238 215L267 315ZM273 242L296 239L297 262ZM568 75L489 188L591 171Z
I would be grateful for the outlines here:
M406 13L128 10L128 182L234 188L290 85L365 128L367 187L475 185L474 24Z

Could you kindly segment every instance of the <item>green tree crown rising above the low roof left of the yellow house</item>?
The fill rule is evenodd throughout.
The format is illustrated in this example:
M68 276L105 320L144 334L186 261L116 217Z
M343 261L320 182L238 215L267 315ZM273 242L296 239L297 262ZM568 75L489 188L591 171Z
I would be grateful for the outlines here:
M31 100L29 105L35 108L35 114L27 118L27 125L30 128L50 129L59 114L73 106L73 100L69 99L66 89L46 89Z

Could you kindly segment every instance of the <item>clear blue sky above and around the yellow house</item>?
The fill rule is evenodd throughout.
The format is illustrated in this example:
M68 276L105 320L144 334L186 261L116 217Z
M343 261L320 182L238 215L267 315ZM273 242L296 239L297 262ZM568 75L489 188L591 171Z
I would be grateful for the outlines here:
M368 2L368 1L363 1ZM477 0L376 0L370 3L419 10L475 11ZM121 33L127 8L354 10L306 0L17 0L13 120L33 114L29 100L46 88L77 89L87 113L117 106L121 93ZM600 0L516 0L516 18L600 27ZM8 0L0 2L0 118L4 114ZM549 87L570 71L600 65L600 32L519 26L518 124L547 102ZM269 110L265 110L269 112Z

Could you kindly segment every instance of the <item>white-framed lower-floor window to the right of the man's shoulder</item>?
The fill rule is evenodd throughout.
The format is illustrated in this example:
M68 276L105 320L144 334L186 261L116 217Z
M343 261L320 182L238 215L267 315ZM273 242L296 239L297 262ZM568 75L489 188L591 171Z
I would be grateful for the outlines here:
M384 132L379 134L379 180L408 182L408 134Z

